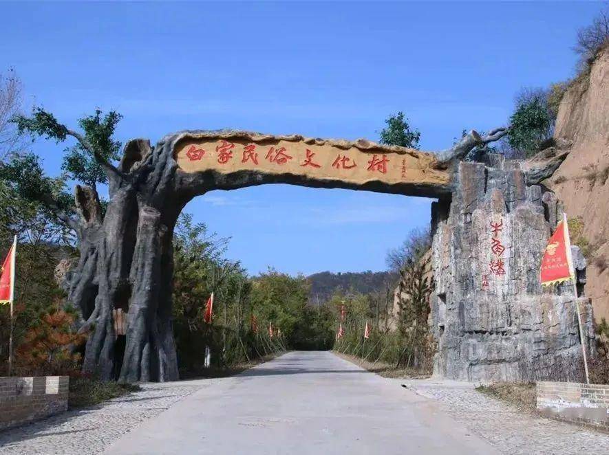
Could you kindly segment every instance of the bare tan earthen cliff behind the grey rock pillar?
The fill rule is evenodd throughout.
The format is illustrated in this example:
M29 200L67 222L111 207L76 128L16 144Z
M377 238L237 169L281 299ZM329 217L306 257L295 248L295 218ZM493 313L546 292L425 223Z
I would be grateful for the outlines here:
M544 183L563 201L568 217L584 221L586 295L597 321L609 320L609 51L566 92L554 137L572 142L571 152Z

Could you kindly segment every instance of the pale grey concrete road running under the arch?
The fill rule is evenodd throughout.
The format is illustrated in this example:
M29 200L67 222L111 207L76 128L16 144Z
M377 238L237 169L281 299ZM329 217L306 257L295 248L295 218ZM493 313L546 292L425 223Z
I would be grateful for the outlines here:
M494 454L416 395L328 352L292 352L189 395L107 454Z

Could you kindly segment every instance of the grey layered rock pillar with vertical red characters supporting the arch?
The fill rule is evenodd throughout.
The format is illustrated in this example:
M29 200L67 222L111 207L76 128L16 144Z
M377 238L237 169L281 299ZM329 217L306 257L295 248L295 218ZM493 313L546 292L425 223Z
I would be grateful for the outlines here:
M581 381L573 286L542 289L539 283L562 206L542 186L527 186L519 162L500 155L487 160L458 164L452 200L432 207L434 375ZM590 353L592 307L588 298L577 303Z

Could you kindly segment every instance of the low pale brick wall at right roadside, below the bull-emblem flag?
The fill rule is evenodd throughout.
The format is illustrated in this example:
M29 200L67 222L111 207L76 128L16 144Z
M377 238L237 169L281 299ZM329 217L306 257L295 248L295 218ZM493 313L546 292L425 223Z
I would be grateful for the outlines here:
M539 381L537 410L546 417L609 431L609 385Z

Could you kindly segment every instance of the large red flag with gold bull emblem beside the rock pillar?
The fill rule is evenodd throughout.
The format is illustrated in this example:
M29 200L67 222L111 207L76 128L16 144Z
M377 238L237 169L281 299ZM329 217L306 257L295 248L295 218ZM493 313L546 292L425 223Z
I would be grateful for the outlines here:
M554 234L548 240L544 258L542 258L542 286L553 285L574 277L569 228L567 217L564 215L563 221L558 223Z

